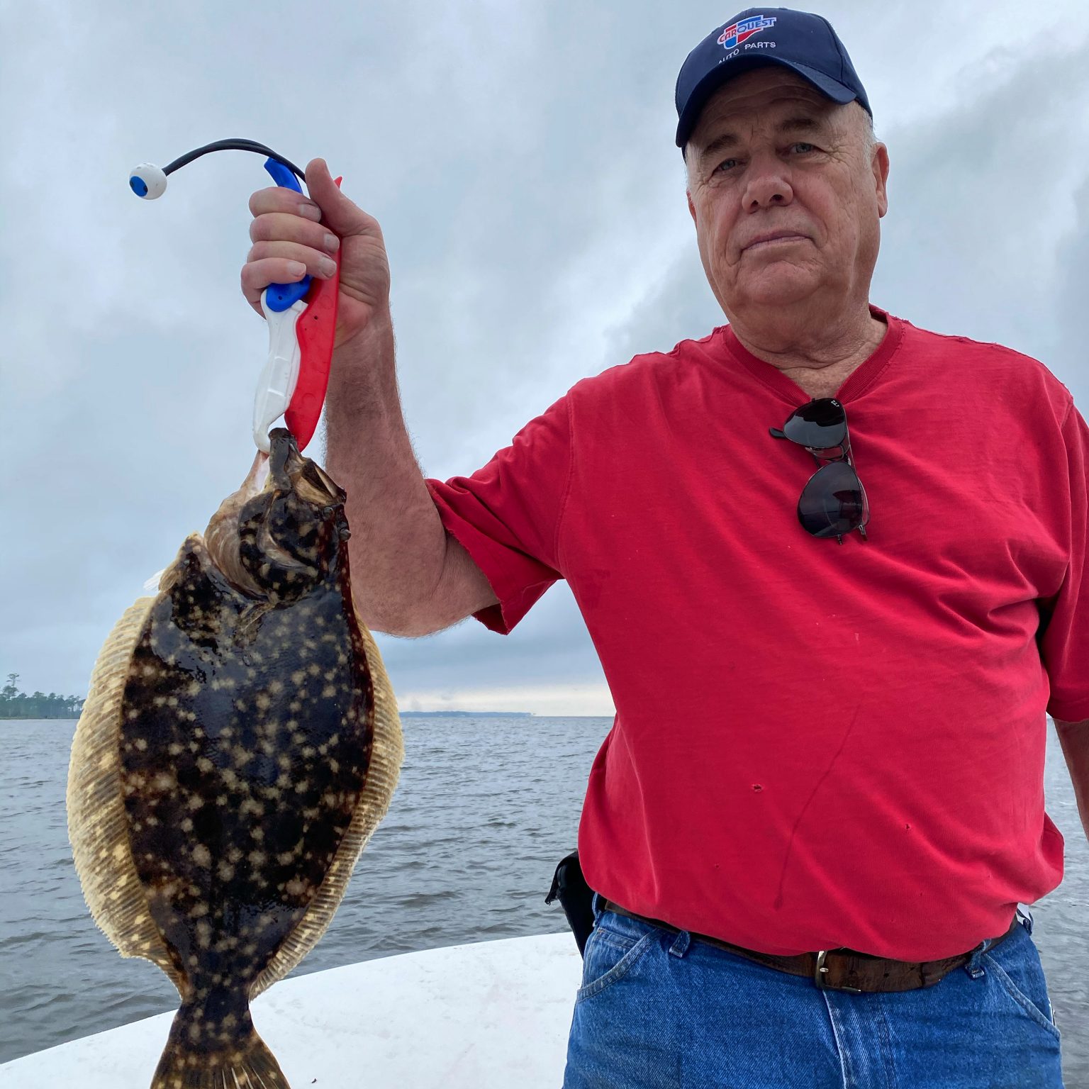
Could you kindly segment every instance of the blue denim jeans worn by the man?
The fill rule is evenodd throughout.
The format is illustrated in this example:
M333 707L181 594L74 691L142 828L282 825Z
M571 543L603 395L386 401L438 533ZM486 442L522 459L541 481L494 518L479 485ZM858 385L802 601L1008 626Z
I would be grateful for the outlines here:
M594 903L564 1089L1062 1089L1030 916L933 987L851 994Z

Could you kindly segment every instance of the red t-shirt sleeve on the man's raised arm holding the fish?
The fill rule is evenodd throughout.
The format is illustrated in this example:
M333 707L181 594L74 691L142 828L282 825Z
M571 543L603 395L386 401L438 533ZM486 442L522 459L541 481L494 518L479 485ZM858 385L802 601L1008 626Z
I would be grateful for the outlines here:
M428 480L439 516L491 584L498 605L474 613L505 635L563 575L558 538L571 479L568 399L530 420L469 477Z

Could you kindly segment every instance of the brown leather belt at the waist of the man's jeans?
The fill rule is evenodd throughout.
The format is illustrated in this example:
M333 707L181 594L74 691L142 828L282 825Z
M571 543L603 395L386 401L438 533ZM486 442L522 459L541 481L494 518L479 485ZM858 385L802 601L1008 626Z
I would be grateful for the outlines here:
M613 911L616 915L626 916L637 922L645 922L650 927L659 927L671 933L681 933L676 927L671 927L668 922L658 919L648 919L646 916L636 915L626 908L614 904L610 900L601 897L601 907L605 911ZM1017 914L1014 913L1013 922L1010 929L1000 938L995 938L988 946L988 952L994 949L1013 933L1017 923ZM957 956L945 957L944 960L893 960L890 957L873 956L870 953L856 953L854 950L821 950L819 953L799 953L797 956L776 956L773 953L759 953L756 950L743 949L741 945L731 945L719 938L711 938L708 934L696 934L688 932L689 937L706 945L713 945L717 949L725 950L736 956L755 960L767 968L774 968L776 971L785 971L792 976L803 976L811 979L817 987L827 988L832 991L848 991L853 994L872 994L877 992L890 991L917 991L925 987L933 987L943 976L954 968L959 968L968 963L976 950L960 953ZM978 949L979 946L976 946Z

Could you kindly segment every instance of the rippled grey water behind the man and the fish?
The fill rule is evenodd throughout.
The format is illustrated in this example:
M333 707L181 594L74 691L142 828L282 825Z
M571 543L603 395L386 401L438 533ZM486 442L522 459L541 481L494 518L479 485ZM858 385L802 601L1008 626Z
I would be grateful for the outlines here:
M543 897L575 845L609 719L405 717L390 815L294 975L409 950L564 930ZM84 905L64 815L75 723L0 722L0 1062L174 1010L158 968L122 959ZM1052 730L1048 811L1066 879L1033 906L1068 1086L1089 1086L1089 843Z

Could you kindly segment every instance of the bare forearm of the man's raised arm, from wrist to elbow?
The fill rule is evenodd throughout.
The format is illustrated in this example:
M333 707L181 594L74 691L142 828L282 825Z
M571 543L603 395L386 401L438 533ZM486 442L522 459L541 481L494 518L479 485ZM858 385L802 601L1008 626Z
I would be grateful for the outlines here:
M441 579L446 535L405 430L389 315L337 350L326 427L329 475L347 492L363 620L381 632L424 634L420 605Z

